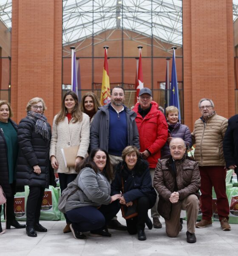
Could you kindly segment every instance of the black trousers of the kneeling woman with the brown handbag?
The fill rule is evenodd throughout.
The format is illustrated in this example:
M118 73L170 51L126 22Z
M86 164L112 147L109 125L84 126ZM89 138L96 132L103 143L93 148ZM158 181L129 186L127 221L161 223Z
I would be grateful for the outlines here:
M151 209L155 202L151 202L147 196L142 196L137 199L138 215L135 218L127 219L127 231L131 235L137 233L137 230L144 230L144 223L148 218L148 209Z

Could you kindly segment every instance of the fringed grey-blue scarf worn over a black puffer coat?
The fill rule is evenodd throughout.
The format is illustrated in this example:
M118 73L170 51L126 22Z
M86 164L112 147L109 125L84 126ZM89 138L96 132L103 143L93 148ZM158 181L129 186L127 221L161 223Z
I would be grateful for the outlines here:
M50 134L46 125L47 118L39 113L34 111L27 111L26 118L34 120L36 123L35 132L36 134L40 134L45 141L50 141Z

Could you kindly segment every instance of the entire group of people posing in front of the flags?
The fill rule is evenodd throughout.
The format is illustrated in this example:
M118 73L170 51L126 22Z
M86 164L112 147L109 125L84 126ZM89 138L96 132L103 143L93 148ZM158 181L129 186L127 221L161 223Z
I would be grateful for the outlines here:
M47 232L39 223L40 209L44 190L54 185L57 172L61 192L67 187L71 191L63 233L72 232L76 239L85 239L87 231L110 237L108 229L113 228L145 240L145 225L162 227L160 215L167 235L176 237L182 229L181 210L186 210L187 242L194 243L195 227L212 225L212 186L221 228L230 230L224 166L237 171L238 117L229 119L227 128L228 120L217 115L212 100L201 99L201 117L191 134L178 120L176 107L167 107L164 116L149 88L140 90L133 110L124 100L120 86L111 90L111 103L103 107L94 93L86 93L79 102L68 91L54 117L52 134L43 99L28 102L27 116L18 127L10 105L0 101L0 185L7 198L7 229L26 228L30 237ZM186 153L193 144L195 160ZM79 146L75 166L65 167L61 149L71 146ZM25 185L29 195L22 225L15 220L14 194ZM196 223L199 189L202 220ZM138 215L124 226L116 214L121 205L133 204Z

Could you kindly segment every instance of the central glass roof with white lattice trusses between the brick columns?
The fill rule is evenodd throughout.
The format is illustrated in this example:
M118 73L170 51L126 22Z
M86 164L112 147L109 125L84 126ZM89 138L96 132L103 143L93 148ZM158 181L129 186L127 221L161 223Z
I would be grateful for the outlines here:
M137 42L153 35L163 50L181 47L182 0L63 0L63 46L110 29L136 32Z

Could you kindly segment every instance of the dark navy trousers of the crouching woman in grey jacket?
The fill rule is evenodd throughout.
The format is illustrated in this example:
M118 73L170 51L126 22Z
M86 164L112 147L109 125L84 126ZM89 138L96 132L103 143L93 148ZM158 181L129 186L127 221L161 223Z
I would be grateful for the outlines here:
M105 225L119 212L119 201L102 205L99 209L93 206L83 206L67 212L68 219L78 232L102 230Z

